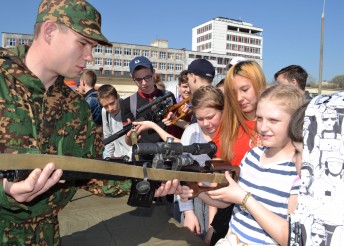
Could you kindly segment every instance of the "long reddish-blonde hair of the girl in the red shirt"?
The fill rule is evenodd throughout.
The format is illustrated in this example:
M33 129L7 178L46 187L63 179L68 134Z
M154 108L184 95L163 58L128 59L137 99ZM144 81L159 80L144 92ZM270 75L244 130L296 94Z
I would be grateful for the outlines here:
M232 66L227 72L224 82L224 109L222 113L222 123L219 129L221 159L231 161L233 158L233 148L238 138L239 128L242 127L248 134L252 142L256 144L254 138L255 132L250 130L245 123L246 115L242 112L238 103L237 92L234 88L234 77L241 76L249 79L254 88L255 94L258 95L266 88L266 79L264 73L255 61L242 61Z

